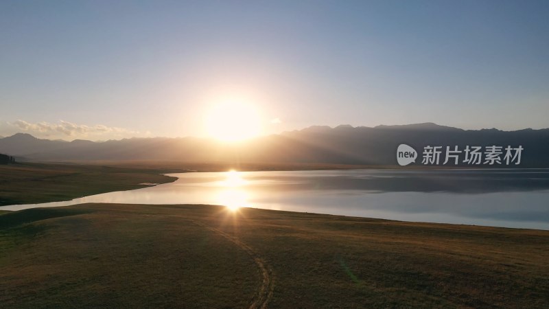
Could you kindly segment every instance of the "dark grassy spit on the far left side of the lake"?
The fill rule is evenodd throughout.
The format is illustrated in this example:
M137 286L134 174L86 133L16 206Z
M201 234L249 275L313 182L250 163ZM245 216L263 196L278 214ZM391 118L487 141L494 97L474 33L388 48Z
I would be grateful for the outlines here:
M180 168L148 165L18 163L0 165L0 206L69 201L73 198L169 183L161 173Z

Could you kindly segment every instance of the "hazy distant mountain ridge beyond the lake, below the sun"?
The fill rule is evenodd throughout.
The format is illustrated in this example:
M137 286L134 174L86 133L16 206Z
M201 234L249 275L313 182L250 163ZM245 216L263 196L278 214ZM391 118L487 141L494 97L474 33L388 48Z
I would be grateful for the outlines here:
M76 139L68 142L37 139L26 133L17 133L0 139L0 152L36 161L164 159L188 162L396 165L399 144L407 144L420 152L416 165L421 165L421 150L425 146L443 146L443 149L445 146L458 146L463 150L466 146L484 148L495 145L503 148L522 146L524 152L518 167L549 167L549 128L463 130L433 123L373 128L311 126L236 144L196 137L132 138L101 142ZM463 162L458 165L468 166Z

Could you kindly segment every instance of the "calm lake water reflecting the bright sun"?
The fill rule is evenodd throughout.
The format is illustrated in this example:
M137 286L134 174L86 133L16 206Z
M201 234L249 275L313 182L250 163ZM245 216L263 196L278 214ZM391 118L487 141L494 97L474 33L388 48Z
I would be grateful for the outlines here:
M549 229L549 170L330 170L170 174L174 183L73 201L215 204L393 220Z

